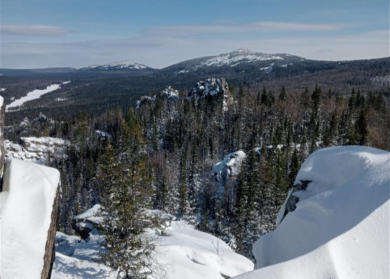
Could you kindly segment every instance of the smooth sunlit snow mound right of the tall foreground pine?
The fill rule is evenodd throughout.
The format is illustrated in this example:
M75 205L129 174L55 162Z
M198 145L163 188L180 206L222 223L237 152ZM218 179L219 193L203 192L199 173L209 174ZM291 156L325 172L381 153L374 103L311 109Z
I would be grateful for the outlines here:
M184 220L172 221L164 232L167 236L156 239L156 259L167 267L168 279L223 279L221 274L233 277L253 270L249 259Z

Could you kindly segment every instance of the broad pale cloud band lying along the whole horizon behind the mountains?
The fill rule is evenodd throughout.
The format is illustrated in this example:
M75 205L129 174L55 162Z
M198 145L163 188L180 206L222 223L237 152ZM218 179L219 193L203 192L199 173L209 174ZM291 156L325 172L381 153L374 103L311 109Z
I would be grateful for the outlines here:
M145 47L149 46L149 47ZM72 43L1 42L2 68L84 67L124 59L161 68L186 59L230 52L239 47L290 53L309 59L351 60L390 55L390 31L343 36L280 36L262 39L137 37Z

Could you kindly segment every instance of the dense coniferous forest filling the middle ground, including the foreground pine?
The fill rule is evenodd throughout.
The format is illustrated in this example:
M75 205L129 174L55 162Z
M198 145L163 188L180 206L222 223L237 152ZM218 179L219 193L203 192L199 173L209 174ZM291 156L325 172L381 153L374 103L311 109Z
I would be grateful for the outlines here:
M160 223L148 209L183 218L254 259L252 244L275 229L305 158L335 145L389 150L388 120L383 94L230 85L223 97L159 93L138 109L77 113L41 123L35 134L71 141L64 158L50 161L61 173L59 230L74 234L73 217L102 204L109 252L101 260L142 278L154 249L142 233ZM239 168L213 172L229 156L242 159Z

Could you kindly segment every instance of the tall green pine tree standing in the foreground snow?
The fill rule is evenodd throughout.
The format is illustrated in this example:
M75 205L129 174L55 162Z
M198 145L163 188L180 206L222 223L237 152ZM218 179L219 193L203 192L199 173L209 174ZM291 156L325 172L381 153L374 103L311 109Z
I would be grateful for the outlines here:
M154 250L154 244L143 236L151 225L144 212L151 189L142 154L142 128L137 118L131 116L131 120L129 126L121 121L124 143L119 157L112 156L109 143L105 154L111 157L101 166L101 172L107 174L104 182L109 192L109 199L103 200L103 233L108 252L101 254L101 261L112 267L118 277L144 279L152 273Z

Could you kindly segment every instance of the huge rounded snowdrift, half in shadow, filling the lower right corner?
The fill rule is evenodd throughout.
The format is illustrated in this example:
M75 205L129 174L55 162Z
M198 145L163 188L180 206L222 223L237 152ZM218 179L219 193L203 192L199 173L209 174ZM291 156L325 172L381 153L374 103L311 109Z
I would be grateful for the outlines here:
M255 242L259 269L238 278L389 278L390 153L323 148L295 184L305 180L306 190L289 193L299 198L296 209Z

